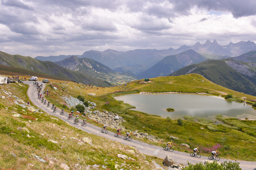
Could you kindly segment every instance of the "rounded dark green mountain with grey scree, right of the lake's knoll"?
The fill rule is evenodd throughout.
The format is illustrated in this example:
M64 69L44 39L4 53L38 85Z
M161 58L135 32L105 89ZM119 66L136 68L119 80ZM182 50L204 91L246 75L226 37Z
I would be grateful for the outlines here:
M232 68L227 62L234 62L231 66L239 66L240 69L236 70L234 69L235 67ZM191 73L201 74L220 86L249 95L256 95L256 68L250 66L249 63L238 62L231 59L207 60L181 68L169 76Z

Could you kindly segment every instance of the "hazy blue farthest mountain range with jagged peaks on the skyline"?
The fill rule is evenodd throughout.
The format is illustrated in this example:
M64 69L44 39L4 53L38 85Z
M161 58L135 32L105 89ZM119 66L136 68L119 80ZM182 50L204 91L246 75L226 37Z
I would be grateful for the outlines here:
M49 56L42 57L37 56L35 59L42 61L60 61L65 58L76 56L78 58L90 58L98 61L111 69L117 71L130 71L135 75L140 74L146 69L152 67L154 64L162 60L166 56L176 55L187 50L194 50L204 57L211 55L225 56L223 58L239 56L243 53L256 50L256 44L251 41L240 41L238 43L230 42L228 45L220 45L216 40L210 42L207 40L206 43L201 44L200 42L195 43L193 46L183 45L178 49L169 48L167 50L152 50L152 49L136 49L126 52L119 52L115 50L95 51L90 50L84 52L82 55L61 55L61 56ZM204 55L206 54L206 55ZM143 68L143 69L142 69Z

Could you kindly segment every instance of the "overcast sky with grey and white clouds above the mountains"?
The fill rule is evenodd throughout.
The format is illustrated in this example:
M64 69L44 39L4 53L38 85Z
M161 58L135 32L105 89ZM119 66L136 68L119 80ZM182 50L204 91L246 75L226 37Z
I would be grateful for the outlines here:
M256 43L256 0L0 0L0 51L22 56Z

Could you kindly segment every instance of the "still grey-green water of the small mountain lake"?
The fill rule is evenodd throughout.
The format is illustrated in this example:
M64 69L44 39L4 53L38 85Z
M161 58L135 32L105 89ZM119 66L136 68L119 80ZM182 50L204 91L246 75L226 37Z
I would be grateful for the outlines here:
M124 101L136 107L137 111L155 114L171 119L184 115L213 118L217 114L229 117L248 117L256 119L256 110L251 105L225 100L222 97L196 94L130 94L116 96L116 100ZM167 108L175 109L167 112Z

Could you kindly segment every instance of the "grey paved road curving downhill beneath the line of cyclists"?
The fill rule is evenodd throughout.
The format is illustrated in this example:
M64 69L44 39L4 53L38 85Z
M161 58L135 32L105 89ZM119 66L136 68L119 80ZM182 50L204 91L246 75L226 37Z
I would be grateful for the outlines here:
M38 91L36 90L36 86L33 85L32 81L24 81L24 83L29 84L29 88L28 88L28 97L30 98L30 100L36 105L38 106L41 110L45 111L46 113L49 113L53 116L56 116L58 118L60 118L63 121L68 122L71 126L74 126L76 128L79 128L85 132L88 133L93 133L99 136L102 136L104 138L107 139L111 139L117 142L120 142L124 145L129 145L129 146L136 146L137 148L139 148L140 152L146 155L151 155L151 156L157 156L159 158L165 158L166 155L170 155L171 158L173 158L174 162L176 163L183 163L183 164L187 164L187 161L189 161L190 163L196 163L196 162L201 162L204 160L209 160L208 157L202 156L201 158L196 158L196 157L191 157L188 153L184 153L184 152L180 152L180 151L165 151L163 150L162 147L158 147L158 146L154 146L154 145L150 145L135 139L132 139L132 141L127 141L124 140L123 137L122 138L118 138L114 136L113 132L108 131L107 134L102 133L100 127L97 127L95 125L89 124L87 123L86 127L81 126L81 120L79 122L78 125L74 124L74 118L72 120L68 120L68 113L64 113L64 115L60 115L60 109L57 109L56 113L53 113L53 110L50 108L47 108L47 105L43 105L43 103L39 100L38 98ZM39 84L41 84L41 82L39 82ZM45 86L45 84L43 83L43 87ZM224 160L221 158L220 161L218 162L224 162L224 161L229 161L229 160ZM234 161L233 161L234 162ZM242 168L242 170L253 170L254 168L256 168L256 162L249 162L249 161L238 161L240 162L240 167Z

